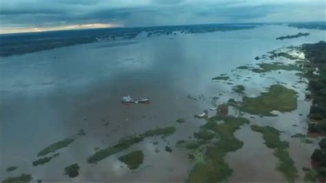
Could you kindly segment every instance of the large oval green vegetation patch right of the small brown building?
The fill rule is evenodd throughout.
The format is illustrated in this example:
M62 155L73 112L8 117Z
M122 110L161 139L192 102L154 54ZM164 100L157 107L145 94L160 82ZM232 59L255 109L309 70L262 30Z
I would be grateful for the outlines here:
M297 96L293 89L282 85L272 85L268 92L258 97L243 96L242 103L229 100L229 104L249 114L276 116L271 111L293 111L297 107Z

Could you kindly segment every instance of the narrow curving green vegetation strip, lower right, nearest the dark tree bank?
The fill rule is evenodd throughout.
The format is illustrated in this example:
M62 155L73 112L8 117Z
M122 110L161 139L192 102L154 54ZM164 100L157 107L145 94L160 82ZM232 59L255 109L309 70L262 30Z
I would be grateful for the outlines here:
M289 147L289 142L281 141L279 138L280 131L274 129L273 127L261 127L257 125L250 126L252 131L256 131L263 134L264 144L270 148L274 149L274 155L279 158L279 164L277 164L276 169L281 171L288 182L294 182L296 177L298 177L298 170L294 166L294 161L292 160L287 147Z

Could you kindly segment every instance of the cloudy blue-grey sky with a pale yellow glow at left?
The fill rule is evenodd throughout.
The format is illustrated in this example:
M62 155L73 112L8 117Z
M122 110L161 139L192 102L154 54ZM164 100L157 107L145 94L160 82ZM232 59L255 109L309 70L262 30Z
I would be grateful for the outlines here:
M326 0L0 0L0 33L325 21Z

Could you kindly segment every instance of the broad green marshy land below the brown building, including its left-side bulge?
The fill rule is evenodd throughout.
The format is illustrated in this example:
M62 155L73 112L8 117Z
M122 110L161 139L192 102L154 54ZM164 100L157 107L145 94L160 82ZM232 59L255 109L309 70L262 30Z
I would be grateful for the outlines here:
M237 151L243 146L243 142L235 138L233 133L246 123L249 123L246 118L213 116L208 118L208 122L200 128L198 133L194 133L197 140L177 142L177 147L182 145L187 149L193 149L193 153L188 155L194 165L187 182L227 180L232 175L232 169L224 158L228 152Z

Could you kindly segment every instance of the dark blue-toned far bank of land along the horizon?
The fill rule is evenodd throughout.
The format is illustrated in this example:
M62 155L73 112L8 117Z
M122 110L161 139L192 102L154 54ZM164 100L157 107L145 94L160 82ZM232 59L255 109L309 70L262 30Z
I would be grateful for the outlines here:
M147 36L197 34L206 32L243 30L255 28L254 25L174 25L151 28L119 28L102 30L69 30L56 32L32 32L27 34L3 34L0 42L0 56L12 56L16 54L27 54L42 50L51 50L58 47L96 43L99 41L117 41L133 39L141 32L147 32ZM39 39L43 37L45 39Z

